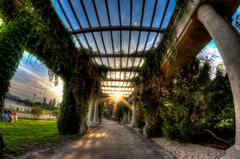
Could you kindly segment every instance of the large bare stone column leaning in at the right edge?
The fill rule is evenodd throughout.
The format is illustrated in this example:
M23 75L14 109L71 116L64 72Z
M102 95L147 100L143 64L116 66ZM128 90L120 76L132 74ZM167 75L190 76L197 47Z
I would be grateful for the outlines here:
M236 138L225 158L240 158L240 36L210 5L201 6L197 16L218 47L232 88Z

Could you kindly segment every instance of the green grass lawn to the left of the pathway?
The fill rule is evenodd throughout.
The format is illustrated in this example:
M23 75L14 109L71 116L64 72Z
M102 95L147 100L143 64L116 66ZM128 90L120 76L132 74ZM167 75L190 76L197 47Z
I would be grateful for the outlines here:
M0 132L3 134L5 153L12 155L77 138L76 135L59 134L56 120L19 119L15 124L1 121Z

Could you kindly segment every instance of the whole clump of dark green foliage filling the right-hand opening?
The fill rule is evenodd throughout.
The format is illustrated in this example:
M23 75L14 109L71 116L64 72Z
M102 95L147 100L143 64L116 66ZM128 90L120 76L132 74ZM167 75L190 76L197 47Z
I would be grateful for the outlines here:
M209 70L208 61L200 67L195 59L162 90L160 113L164 136L189 141L203 129L217 131L227 126L232 129L233 104L228 78L218 70L216 78L211 80Z

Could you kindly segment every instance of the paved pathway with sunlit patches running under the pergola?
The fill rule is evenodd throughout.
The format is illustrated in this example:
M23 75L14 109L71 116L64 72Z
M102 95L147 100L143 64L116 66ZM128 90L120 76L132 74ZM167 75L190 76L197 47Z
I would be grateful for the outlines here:
M57 149L27 157L37 159L174 159L170 153L133 129L103 120L100 128Z

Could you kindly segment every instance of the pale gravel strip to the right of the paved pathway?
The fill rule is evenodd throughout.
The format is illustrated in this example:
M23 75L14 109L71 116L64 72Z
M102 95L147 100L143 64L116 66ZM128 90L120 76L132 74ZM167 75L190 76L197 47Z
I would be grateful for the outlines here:
M224 150L191 143L180 143L166 138L153 138L160 146L173 153L178 159L219 159Z

